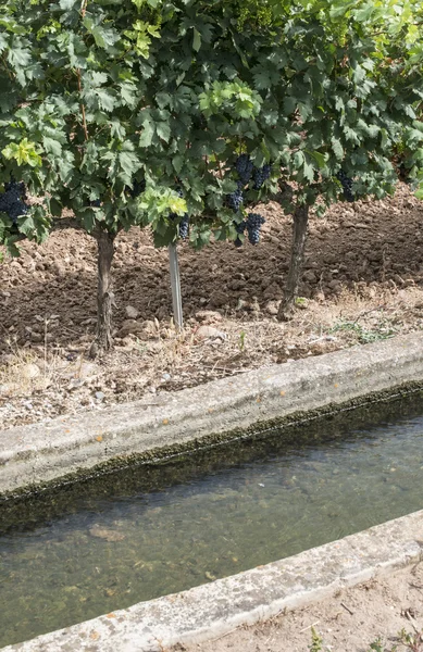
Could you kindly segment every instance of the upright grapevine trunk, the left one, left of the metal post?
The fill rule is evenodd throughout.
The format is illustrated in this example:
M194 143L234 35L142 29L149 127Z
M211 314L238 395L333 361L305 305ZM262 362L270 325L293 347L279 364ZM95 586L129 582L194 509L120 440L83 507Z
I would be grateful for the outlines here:
M112 275L114 234L98 229L95 238L98 246L98 288L97 288L97 336L92 352L108 351L112 347Z

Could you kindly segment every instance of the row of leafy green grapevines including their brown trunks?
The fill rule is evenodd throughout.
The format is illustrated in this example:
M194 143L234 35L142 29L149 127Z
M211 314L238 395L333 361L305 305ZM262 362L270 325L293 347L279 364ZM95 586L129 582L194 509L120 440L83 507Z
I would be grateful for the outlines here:
M72 211L98 242L108 349L120 230L150 226L161 247L189 220L194 247L242 244L247 208L277 198L288 318L310 209L393 193L405 170L423 183L422 24L418 0L2 2L0 184L36 201L2 209L0 242L17 254Z

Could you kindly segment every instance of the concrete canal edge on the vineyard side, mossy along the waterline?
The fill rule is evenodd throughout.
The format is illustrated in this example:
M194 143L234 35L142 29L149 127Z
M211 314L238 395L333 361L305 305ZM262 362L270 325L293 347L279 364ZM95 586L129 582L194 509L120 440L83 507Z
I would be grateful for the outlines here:
M0 499L60 484L66 476L72 481L72 474L111 463L159 459L307 421L313 411L336 412L423 388L422 343L421 334L410 334L99 412L0 430Z

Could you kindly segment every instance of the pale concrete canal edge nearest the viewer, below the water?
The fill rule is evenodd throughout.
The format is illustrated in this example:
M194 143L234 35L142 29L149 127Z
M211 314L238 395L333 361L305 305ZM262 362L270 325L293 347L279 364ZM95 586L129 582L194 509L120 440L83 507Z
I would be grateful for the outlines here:
M2 652L161 652L178 642L200 642L268 619L422 559L423 511Z

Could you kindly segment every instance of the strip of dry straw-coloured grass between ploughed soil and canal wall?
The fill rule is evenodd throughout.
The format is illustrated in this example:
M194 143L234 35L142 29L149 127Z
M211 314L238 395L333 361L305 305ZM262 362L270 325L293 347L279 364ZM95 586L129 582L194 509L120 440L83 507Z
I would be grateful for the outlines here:
M209 325L224 338L201 339ZM279 324L244 306L236 317L211 313L189 318L178 334L172 321L148 322L139 336L116 341L115 349L91 362L90 338L72 351L57 347L45 323L45 342L32 350L9 342L0 362L0 421L3 427L37 418L102 409L115 402L175 391L263 365L320 355L423 329L422 291L357 284L328 302L304 300L295 318ZM28 400L33 405L27 409Z

